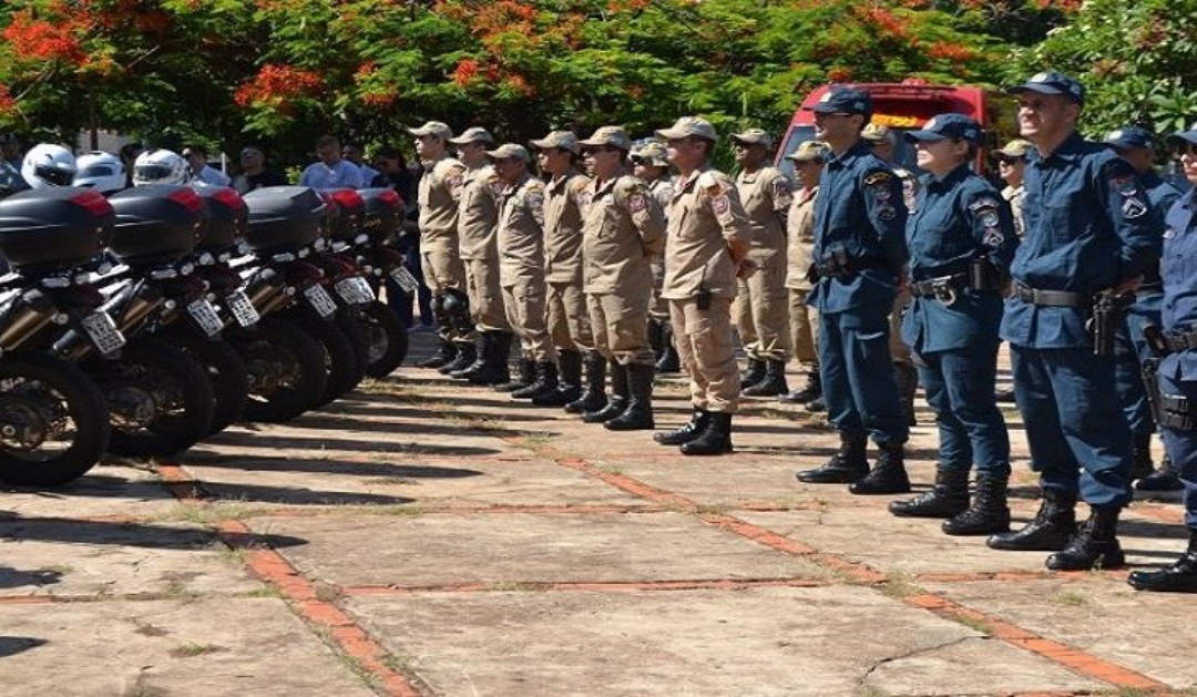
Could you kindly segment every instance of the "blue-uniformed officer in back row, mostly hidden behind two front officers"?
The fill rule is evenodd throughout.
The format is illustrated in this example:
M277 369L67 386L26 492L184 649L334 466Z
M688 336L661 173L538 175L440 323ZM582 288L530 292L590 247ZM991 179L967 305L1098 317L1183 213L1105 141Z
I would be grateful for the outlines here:
M1125 126L1106 134L1105 144L1138 172L1138 183L1160 216L1157 234L1162 236L1163 216L1180 199L1180 190L1155 172L1154 134L1141 126ZM1159 472L1155 472L1152 465L1152 434L1155 432L1155 419L1152 416L1143 381L1155 380L1155 371L1152 351L1143 338L1143 326L1160 325L1162 302L1163 287L1159 269L1149 268L1143 273L1143 283L1135 291L1135 303L1126 309L1126 317L1114 338L1117 360L1114 380L1131 432L1134 453L1131 479L1138 480L1135 489L1147 492L1179 491L1183 487L1167 457L1163 459Z

